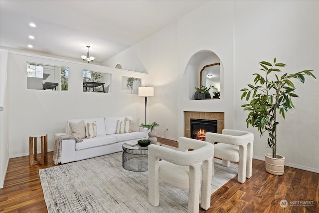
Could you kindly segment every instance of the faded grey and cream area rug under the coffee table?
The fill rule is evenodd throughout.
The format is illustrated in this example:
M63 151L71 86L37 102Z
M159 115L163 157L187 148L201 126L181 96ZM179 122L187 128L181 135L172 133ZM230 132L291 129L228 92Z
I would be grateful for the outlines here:
M212 193L237 173L215 161ZM148 172L122 167L122 152L39 170L48 213L185 213L188 190L160 182L160 206L148 202Z

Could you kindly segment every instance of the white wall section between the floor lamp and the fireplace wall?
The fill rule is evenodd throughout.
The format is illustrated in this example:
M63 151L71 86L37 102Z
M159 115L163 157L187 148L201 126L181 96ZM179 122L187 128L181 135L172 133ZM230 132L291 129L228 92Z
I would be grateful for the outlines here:
M154 97L149 97L147 102L148 120L160 124L155 129L158 136L176 140L177 82L180 80L176 72L176 25L160 30L105 61L103 65L115 67L117 63L121 63L122 68L126 64L132 67L134 63L136 66L143 64L146 72L152 73L147 76L147 82L142 80L142 86L154 87ZM145 120L142 119L142 122L145 123ZM168 131L164 135L166 127Z

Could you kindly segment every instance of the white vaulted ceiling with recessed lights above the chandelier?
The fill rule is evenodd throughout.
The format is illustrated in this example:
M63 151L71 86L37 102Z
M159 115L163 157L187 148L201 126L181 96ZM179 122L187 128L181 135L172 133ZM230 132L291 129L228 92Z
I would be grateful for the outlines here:
M90 45L94 62L101 63L206 2L0 0L0 46L81 61Z

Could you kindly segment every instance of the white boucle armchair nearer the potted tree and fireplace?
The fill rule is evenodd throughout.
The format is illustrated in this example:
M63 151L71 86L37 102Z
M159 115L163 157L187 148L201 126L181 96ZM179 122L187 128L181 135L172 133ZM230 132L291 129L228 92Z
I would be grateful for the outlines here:
M206 133L206 141L214 144L214 157L222 159L222 165L238 163L238 182L245 183L252 175L254 134L246 131L223 129L222 134ZM213 165L214 173L214 165Z

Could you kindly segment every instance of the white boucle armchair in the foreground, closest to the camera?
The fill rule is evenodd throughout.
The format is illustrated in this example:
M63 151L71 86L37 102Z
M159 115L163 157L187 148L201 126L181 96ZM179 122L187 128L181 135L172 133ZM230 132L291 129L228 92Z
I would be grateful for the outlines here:
M185 137L177 142L178 150L149 146L149 202L155 207L160 205L160 179L173 187L189 190L188 213L199 211L201 188L200 206L207 210L210 207L214 146Z

